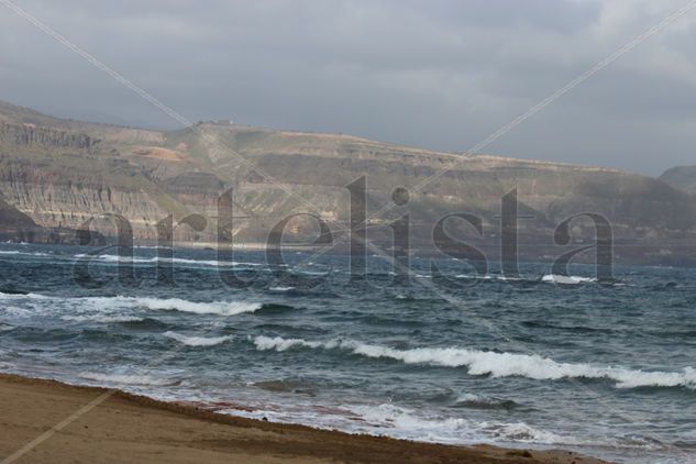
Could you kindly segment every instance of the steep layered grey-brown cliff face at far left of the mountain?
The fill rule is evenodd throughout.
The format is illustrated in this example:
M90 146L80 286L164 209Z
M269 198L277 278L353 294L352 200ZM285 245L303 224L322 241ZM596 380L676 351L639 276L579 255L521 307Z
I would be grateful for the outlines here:
M154 240L155 224L169 213L158 189L115 148L102 147L79 132L0 123L0 196L41 227L114 235L103 218L120 214L136 237Z

